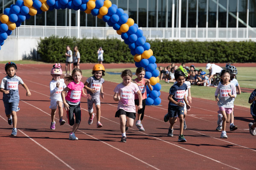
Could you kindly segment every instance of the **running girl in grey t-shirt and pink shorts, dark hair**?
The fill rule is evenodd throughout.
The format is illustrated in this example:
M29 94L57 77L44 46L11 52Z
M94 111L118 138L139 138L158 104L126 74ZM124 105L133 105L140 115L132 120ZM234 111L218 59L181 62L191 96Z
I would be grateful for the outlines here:
M221 84L215 91L215 101L218 101L219 111L222 114L222 132L221 138L227 138L226 123L230 122L230 113L234 108L234 98L236 97L236 87L230 81L230 71L224 69L221 71Z

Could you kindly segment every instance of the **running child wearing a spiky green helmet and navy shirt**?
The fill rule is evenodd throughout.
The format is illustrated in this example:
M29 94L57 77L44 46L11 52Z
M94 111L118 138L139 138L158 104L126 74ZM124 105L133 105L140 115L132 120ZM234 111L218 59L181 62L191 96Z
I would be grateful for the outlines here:
M185 97L185 91L187 90L187 85L184 83L187 72L186 70L180 66L177 71L175 71L175 80L176 84L172 85L169 91L169 105L168 105L168 114L165 116L165 122L170 122L170 127L168 130L167 136L173 136L173 125L177 121L177 115L180 119L180 135L178 138L178 142L186 142L186 139L183 135L183 128L184 128L184 103L186 103L187 111L190 111L190 105L187 102ZM167 119L167 121L166 121Z

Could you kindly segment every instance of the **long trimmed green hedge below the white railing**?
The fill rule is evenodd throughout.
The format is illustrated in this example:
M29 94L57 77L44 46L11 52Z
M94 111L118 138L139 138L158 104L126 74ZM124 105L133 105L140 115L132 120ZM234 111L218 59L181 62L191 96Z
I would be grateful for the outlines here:
M256 42L197 42L150 40L151 49L160 62L256 62ZM49 37L41 39L38 54L44 62L65 62L66 45L73 51L78 46L81 62L97 62L97 50L102 46L104 62L134 62L128 45L118 39L76 39Z

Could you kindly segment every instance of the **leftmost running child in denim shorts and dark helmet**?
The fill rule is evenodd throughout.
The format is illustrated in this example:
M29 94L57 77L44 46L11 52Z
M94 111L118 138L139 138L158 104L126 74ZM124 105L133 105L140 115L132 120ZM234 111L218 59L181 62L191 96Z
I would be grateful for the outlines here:
M18 85L22 85L26 89L26 96L31 96L29 88L22 81L20 77L16 76L17 65L14 62L6 63L4 67L7 76L2 79L0 85L0 91L3 92L3 104L5 108L6 117L8 118L8 124L13 125L12 136L17 135L17 111L20 96Z

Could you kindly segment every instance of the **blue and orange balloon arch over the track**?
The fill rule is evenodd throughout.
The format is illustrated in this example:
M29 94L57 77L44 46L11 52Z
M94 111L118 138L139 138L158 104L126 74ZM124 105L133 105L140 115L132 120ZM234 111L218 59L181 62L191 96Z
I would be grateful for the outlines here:
M4 40L12 34L12 30L19 27L23 21L43 11L65 8L80 9L113 26L125 44L129 45L136 67L145 68L145 78L150 79L153 91L147 88L146 105L160 105L159 71L156 69L156 58L153 56L150 44L146 42L143 31L138 29L134 20L110 0L17 0L9 8L5 8L3 14L0 14L0 49Z

